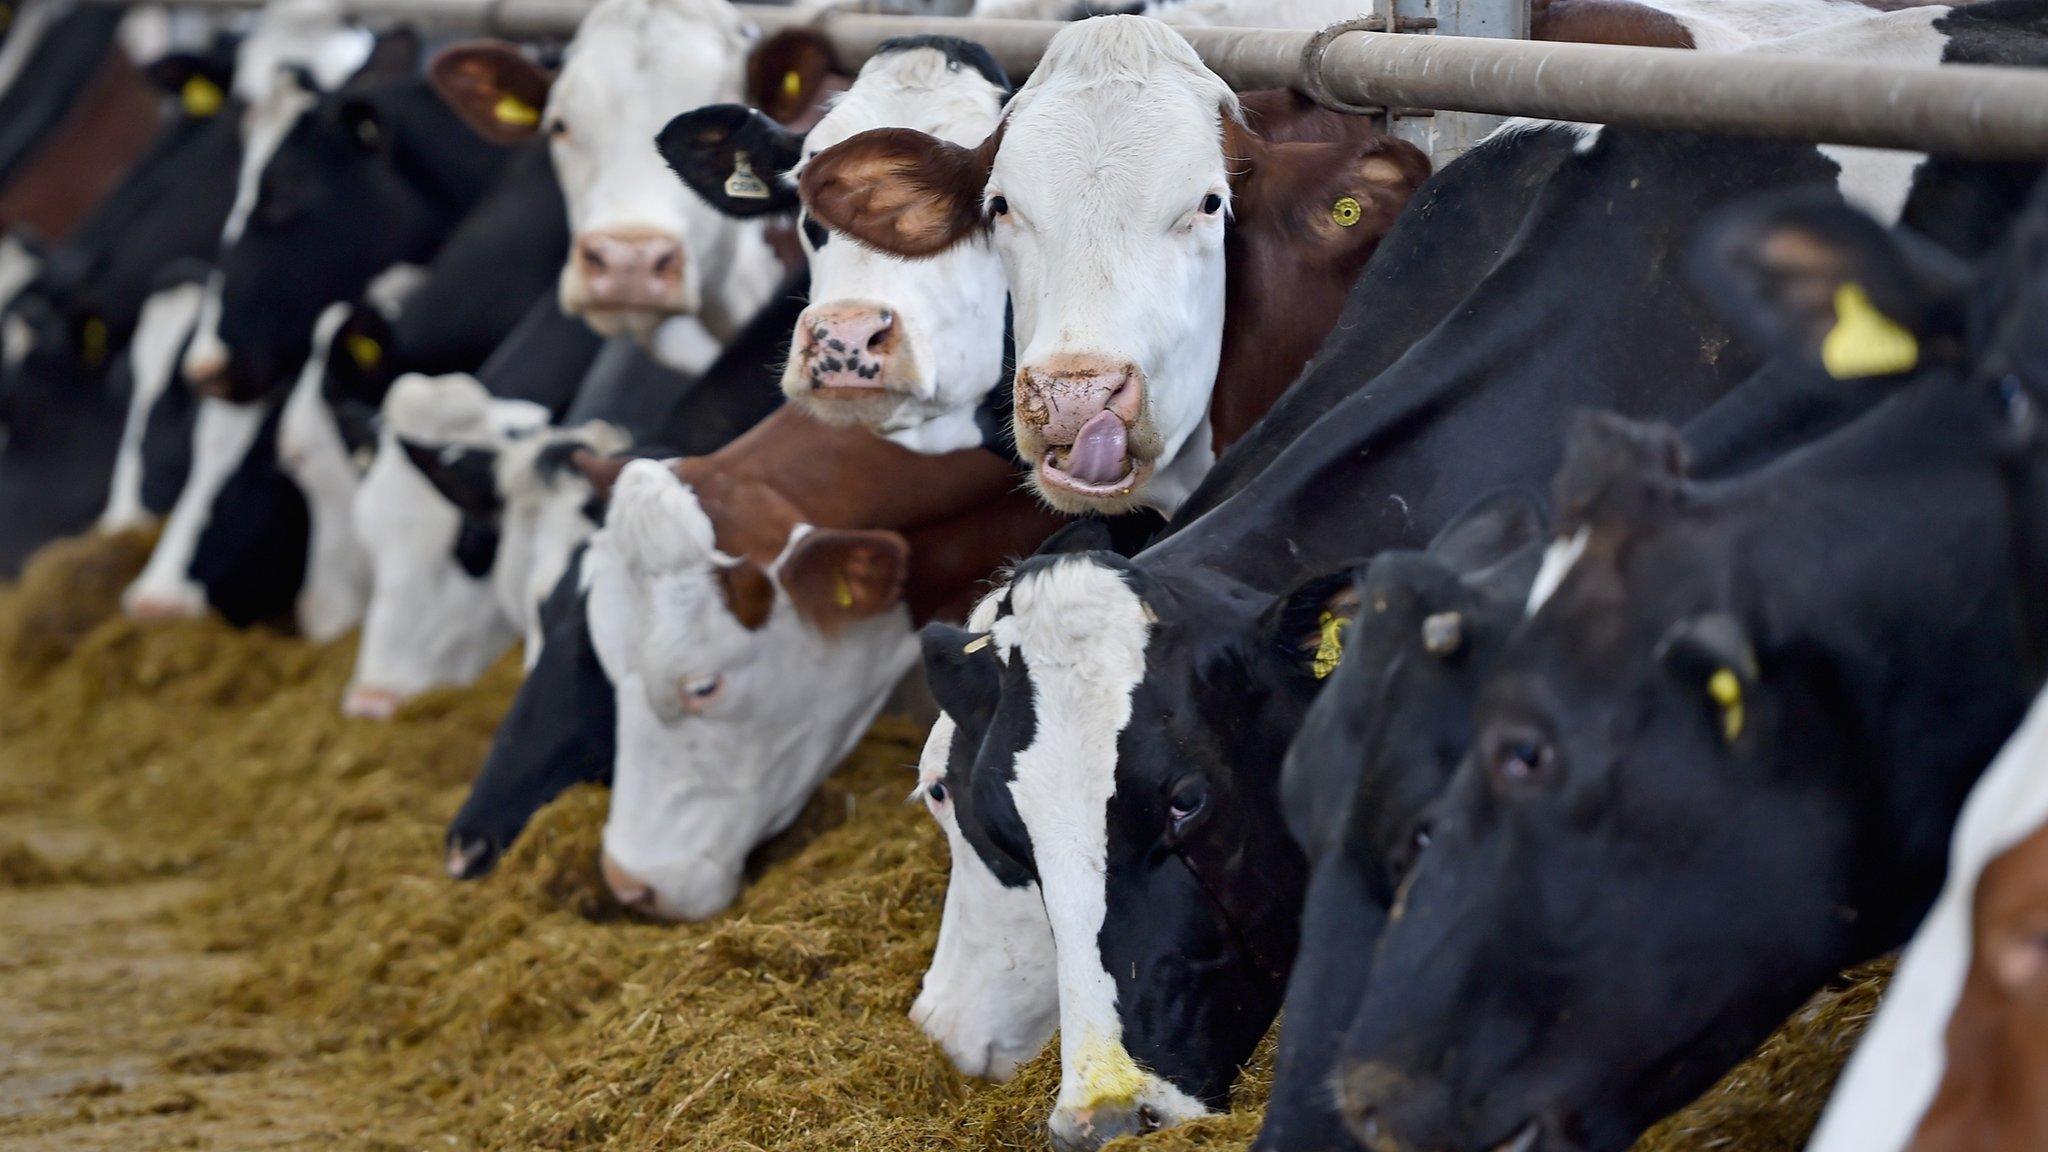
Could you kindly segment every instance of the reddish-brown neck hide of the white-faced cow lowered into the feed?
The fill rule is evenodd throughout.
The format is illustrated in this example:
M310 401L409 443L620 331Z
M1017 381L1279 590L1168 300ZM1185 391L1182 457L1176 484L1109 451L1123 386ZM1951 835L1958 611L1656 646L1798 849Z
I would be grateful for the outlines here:
M797 408L672 467L711 517L719 551L758 568L774 564L799 523L901 533L905 596L920 623L965 611L999 564L1028 556L1063 523L1022 494L1010 461L991 451L922 455Z

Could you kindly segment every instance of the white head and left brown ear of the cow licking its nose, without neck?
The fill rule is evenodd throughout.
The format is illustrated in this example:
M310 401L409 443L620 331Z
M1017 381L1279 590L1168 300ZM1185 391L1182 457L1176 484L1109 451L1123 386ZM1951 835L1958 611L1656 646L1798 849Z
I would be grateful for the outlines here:
M901 256L991 236L1032 484L1063 510L1171 508L1210 459L1225 217L1264 146L1180 33L1106 16L1053 37L979 146L866 131L805 164L801 191L825 225Z

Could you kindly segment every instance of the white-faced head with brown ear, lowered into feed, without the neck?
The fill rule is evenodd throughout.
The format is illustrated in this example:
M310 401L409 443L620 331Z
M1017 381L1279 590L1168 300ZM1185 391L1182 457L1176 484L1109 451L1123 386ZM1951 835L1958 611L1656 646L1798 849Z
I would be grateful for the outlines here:
M616 687L604 877L625 906L698 920L733 900L748 853L915 658L907 551L889 531L805 525L758 482L625 467L584 560Z

